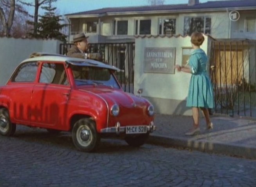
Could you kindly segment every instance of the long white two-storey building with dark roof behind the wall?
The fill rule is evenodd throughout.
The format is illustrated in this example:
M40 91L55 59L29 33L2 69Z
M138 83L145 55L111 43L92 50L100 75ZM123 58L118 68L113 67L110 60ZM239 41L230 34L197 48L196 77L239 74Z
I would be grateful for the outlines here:
M188 4L103 8L66 17L69 41L79 32L90 36L90 43L117 43L134 41L136 35L184 36L195 30L213 38L256 39L256 0L188 0Z

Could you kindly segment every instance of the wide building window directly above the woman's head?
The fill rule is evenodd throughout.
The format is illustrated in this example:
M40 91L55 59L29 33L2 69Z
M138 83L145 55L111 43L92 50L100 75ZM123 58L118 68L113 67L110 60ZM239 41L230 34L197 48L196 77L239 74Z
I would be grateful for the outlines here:
M202 32L204 34L211 34L211 17L185 17L184 18L184 35L189 36L193 32Z

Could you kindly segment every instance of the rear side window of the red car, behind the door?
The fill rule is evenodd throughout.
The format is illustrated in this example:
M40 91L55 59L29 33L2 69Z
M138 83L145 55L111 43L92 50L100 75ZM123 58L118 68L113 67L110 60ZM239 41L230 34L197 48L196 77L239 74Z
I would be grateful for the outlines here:
M37 62L29 62L21 65L15 72L12 82L34 82L36 79Z

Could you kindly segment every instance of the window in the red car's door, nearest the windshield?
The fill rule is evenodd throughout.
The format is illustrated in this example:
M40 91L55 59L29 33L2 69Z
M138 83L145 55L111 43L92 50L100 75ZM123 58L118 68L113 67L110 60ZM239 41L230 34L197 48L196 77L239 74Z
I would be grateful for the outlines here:
M43 63L39 83L69 85L64 65L60 63Z

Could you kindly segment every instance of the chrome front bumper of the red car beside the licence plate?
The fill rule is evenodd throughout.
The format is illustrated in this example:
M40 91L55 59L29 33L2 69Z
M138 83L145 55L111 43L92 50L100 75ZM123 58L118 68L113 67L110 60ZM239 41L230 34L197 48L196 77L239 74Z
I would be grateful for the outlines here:
M150 124L147 125L146 127L147 127L147 133L152 133L156 129L156 126L153 121L151 121ZM124 133L124 132L126 132L126 126L121 127L119 122L117 122L114 127L101 129L101 133L116 133L118 135L119 133Z

